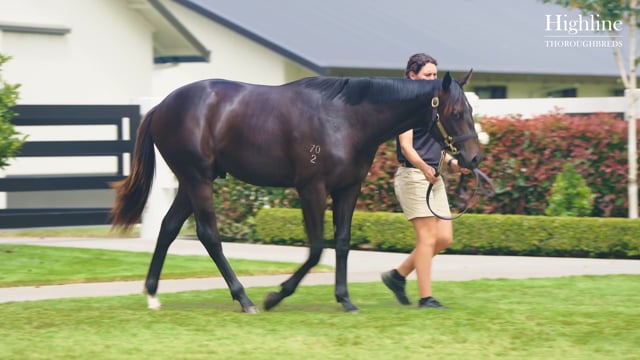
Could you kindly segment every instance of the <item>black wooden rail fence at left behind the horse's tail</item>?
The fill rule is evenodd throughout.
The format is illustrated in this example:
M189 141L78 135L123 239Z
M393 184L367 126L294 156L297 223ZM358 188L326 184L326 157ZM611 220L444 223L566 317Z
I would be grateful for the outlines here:
M113 175L25 175L0 178L0 192L109 189L109 183L125 177L123 154L133 154L140 125L138 105L19 105L12 119L16 126L114 125L116 140L29 141L17 157L113 156ZM124 121L127 118L128 121ZM128 126L128 137L123 127ZM99 225L108 223L109 208L0 209L0 228Z

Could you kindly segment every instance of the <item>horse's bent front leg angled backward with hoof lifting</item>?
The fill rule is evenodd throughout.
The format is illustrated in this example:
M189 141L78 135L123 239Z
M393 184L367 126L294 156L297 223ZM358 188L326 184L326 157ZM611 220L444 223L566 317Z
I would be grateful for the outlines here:
M284 298L293 294L304 276L320 261L324 249L324 211L327 193L324 184L313 184L298 188L304 226L309 238L309 257L298 270L285 282L280 284L279 292L272 292L264 299L264 308L269 310L278 305Z

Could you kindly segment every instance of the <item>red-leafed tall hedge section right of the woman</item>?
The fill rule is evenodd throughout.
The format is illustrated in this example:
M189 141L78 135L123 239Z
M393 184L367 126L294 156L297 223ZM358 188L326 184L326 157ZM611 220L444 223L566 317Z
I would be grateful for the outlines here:
M627 124L609 114L481 119L490 142L481 168L497 194L476 212L541 215L571 162L596 195L592 216L627 216Z

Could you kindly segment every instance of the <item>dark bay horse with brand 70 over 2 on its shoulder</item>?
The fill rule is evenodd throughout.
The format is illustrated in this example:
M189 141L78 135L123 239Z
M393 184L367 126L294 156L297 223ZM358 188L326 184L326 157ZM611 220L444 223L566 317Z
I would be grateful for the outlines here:
M384 141L418 125L432 126L442 143L457 148L461 166L475 168L480 143L460 81L316 77L281 86L226 80L185 85L151 109L138 129L131 175L113 184L114 227L140 220L154 176L154 144L178 180L165 215L145 289L150 308L169 246L194 214L197 235L244 312L257 312L222 251L212 182L227 173L259 186L295 187L309 241L308 259L267 295L271 309L298 287L320 260L328 196L333 199L335 297L356 312L347 290L351 219L362 180ZM439 121L441 126L435 126ZM441 128L439 130L439 128Z

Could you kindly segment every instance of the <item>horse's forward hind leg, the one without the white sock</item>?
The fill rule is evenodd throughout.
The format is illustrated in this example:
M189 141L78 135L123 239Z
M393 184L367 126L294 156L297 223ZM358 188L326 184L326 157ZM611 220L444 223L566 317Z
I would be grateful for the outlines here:
M244 287L233 272L233 269L231 269L231 265L229 265L227 258L222 252L222 244L216 225L216 214L213 209L211 191L211 183L206 181L192 184L190 187L190 197L196 218L198 238L205 249L207 249L211 259L215 262L220 274L222 274L231 292L231 297L234 300L238 300L243 312L256 313L256 306L245 293Z

